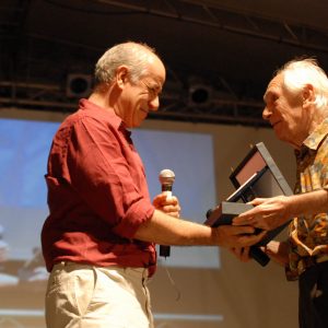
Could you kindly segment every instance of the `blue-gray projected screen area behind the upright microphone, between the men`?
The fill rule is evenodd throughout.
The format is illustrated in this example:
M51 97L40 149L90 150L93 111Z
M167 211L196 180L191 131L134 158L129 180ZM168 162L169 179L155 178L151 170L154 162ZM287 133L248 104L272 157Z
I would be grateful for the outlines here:
M134 136L136 134L136 136ZM202 223L215 203L213 144L210 134L138 130L132 134L147 171L151 196L161 191L159 174L175 173L173 194L179 198L181 216ZM161 263L162 258L159 258ZM219 268L218 247L172 247L166 265Z

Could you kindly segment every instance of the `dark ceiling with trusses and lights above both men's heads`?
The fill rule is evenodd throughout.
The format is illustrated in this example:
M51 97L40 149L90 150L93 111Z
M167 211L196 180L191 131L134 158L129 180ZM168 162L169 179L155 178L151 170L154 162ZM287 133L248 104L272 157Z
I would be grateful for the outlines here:
M131 39L167 68L152 118L261 126L278 67L312 56L328 69L327 12L326 0L1 0L0 108L75 110L97 58Z

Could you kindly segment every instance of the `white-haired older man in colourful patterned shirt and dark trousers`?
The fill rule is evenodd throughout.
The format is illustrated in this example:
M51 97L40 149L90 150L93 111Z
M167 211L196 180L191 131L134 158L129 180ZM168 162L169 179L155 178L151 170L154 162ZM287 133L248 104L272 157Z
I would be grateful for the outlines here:
M234 224L274 229L288 220L289 241L272 242L267 254L298 279L300 327L328 327L328 79L313 59L280 69L265 93L263 118L278 139L295 149L294 196L255 199ZM247 260L248 249L236 250Z

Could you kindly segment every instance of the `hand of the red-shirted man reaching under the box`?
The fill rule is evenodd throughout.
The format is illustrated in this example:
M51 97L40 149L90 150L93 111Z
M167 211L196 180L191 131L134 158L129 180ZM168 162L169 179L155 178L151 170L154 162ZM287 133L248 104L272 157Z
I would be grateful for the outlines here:
M257 235L254 234L255 229L249 225L220 225L219 227L215 227L213 230L216 234L215 237L218 238L218 245L227 248L251 246L261 241L266 235L265 231Z

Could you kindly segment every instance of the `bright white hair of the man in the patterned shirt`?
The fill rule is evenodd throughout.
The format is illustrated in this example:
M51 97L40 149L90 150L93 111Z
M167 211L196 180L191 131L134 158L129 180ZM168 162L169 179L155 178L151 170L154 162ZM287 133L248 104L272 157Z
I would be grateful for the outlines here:
M326 109L328 105L328 78L314 58L294 59L276 73L283 78L283 87L292 94L301 94L306 84L315 90L315 106ZM325 108L326 107L326 108Z

